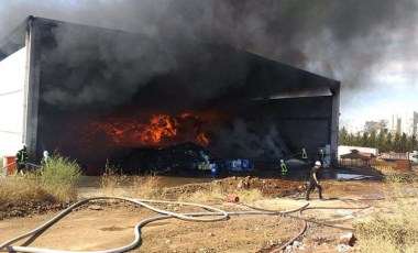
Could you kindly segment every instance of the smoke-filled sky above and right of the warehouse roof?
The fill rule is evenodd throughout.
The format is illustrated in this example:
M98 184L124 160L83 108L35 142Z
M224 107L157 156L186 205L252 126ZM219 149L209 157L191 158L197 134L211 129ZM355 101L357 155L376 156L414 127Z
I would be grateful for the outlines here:
M418 0L1 0L28 15L228 44L341 81L340 124L418 111Z

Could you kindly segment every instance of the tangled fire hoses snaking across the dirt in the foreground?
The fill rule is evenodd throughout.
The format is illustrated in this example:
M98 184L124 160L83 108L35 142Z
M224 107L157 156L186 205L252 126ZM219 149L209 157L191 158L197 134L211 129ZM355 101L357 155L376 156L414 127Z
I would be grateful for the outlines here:
M62 251L62 250L51 250L51 249L41 249L41 248L31 248L26 246L31 242L33 242L37 237L40 237L45 230L51 228L54 223L59 221L62 218L67 216L72 210L74 210L77 207L80 207L89 201L92 200L108 200L108 199L118 199L118 200L124 200L133 204L138 204L142 207L148 208L150 210L153 210L157 213L161 213L163 216L158 217L152 217L145 220L140 221L135 227L134 227L134 240L124 246L117 248L117 249L111 249L111 250L101 250L101 251ZM152 205L148 204L169 204L169 205L179 205L179 206L193 206L193 207L199 207L209 211L206 212L191 212L191 213L177 213L177 212L170 212L167 210L158 209L153 207ZM292 244L297 238L299 238L305 230L307 229L307 222L315 222L318 224L323 224L323 226L330 226L326 224L324 222L319 222L310 219L306 219L301 217L301 212L307 209L318 209L321 207L314 207L314 208L308 208L309 204L305 204L299 208L293 209L293 210L287 210L287 211L272 211L272 210L265 210L261 208L255 208L251 207L248 205L240 204L242 206L246 206L248 208L251 208L252 210L250 211L224 211L216 207L207 206L207 205L200 205L200 204L190 204L190 202L176 202L176 201L164 201L164 200L144 200L144 199L133 199L133 198L124 198L124 197L94 197L94 198L87 198L84 200L80 200L70 207L66 208L62 212L59 212L57 216L45 222L44 224L40 226L38 228L26 232L24 234L21 234L19 237L15 237L13 239L10 239L9 241L0 244L0 251L9 251L9 252L48 252L48 253L75 253L75 252L82 252L82 253L113 253L113 252L125 252L133 250L138 248L141 243L141 229L146 226L147 223L157 221L157 220L163 220L163 219L170 219L170 218L177 218L182 220L190 220L190 221L199 221L199 222L213 222L213 221L221 221L221 220L228 220L230 216L235 216L235 215L283 215L283 216L289 216L292 218L297 218L304 221L304 227L300 230L300 232L294 237L292 240L289 240L287 243L284 245L280 245L279 248L273 250L272 252L278 252L280 251L279 249L285 249L287 245ZM369 207L369 206L367 206ZM367 207L360 207L360 208L340 208L340 209L364 209ZM332 209L329 207L322 207L327 209ZM337 208L334 208L337 209ZM299 217L290 216L289 213L297 212L299 211ZM212 217L212 218L204 218L204 217ZM342 229L342 230L350 230L352 231L353 229L350 228L343 228L343 227L337 227L337 226L330 226L333 228ZM29 238L28 241L22 244L21 246L13 246L12 244L21 241L25 238Z

